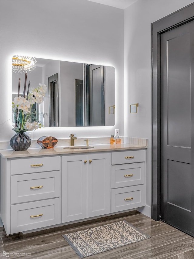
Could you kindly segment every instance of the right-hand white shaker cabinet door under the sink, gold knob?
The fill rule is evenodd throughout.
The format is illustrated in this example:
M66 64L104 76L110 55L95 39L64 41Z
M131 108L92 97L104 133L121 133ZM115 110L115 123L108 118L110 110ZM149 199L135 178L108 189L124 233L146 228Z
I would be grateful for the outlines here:
M87 216L110 213L110 153L88 154ZM91 161L91 162L90 162Z

